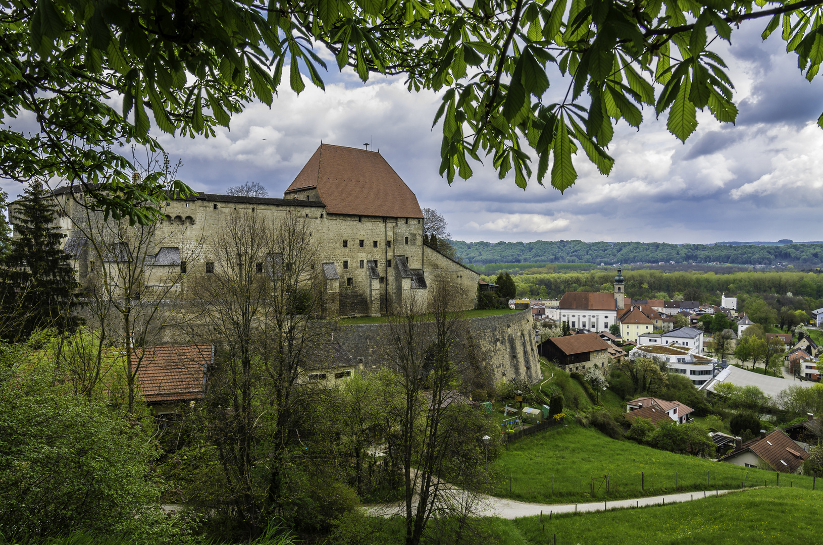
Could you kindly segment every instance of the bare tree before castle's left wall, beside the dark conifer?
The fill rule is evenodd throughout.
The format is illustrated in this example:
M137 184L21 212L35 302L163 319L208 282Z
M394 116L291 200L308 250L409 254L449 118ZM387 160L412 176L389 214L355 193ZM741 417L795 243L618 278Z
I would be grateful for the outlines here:
M155 170L171 180L180 166L170 164L167 154L149 151L145 161L137 159L136 154L134 159L141 169L133 173L136 181ZM94 353L87 349L82 354L77 349L72 353L72 365L80 366L77 380L84 381L78 388L95 390L95 381L107 374L110 347L119 347L124 356L119 362L123 365L120 375L125 380L126 410L134 413L139 392L137 376L145 357L145 352L135 347L157 342L164 327L173 329L187 319L180 309L182 284L187 264L198 261L203 237L188 232L197 229L193 226L167 220L130 225L127 219L107 218L86 196L73 197L83 205L72 215L72 225L82 235L80 245L88 250L82 288L89 331L96 337ZM194 243L184 244L184 238ZM82 362L81 356L85 358Z

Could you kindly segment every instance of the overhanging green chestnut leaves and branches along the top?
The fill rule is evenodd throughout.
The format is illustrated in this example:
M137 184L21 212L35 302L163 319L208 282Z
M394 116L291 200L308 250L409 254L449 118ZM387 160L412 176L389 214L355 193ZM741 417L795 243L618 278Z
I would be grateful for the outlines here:
M768 18L763 38L780 29L811 80L823 62L820 3L2 0L0 117L33 113L38 127L0 131L0 176L66 178L86 185L107 213L151 221L164 191L190 190L179 181L162 187L154 175L131 180L117 146L159 147L152 124L213 136L251 100L271 105L284 78L304 90L301 65L323 88L319 43L363 81L402 73L410 90L442 92L435 124L449 183L471 177L469 159L486 155L500 178L514 172L518 187L536 165L538 182L550 176L564 191L578 177L580 150L611 172L614 124L639 127L644 106L668 112L669 131L683 141L698 109L734 122L732 81L713 50L731 41L732 23ZM550 64L569 76L553 104L544 100ZM115 96L122 107L111 104Z

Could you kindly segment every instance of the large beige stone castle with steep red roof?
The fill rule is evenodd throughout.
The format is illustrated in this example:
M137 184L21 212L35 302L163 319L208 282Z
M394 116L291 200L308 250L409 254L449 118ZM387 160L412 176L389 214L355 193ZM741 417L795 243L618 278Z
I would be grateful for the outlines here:
M59 224L67 235L64 249L82 284L95 267L128 260L129 253L123 248L101 259L92 248L89 229L81 229L88 220L71 191L59 187L53 195L63 210ZM458 307L475 306L477 273L423 243L425 225L417 198L384 157L328 144L319 146L281 199L198 192L166 201L165 219L155 226L154 247L144 262L146 282L178 271L214 274L216 234L234 210L272 219L291 213L309 222L318 244L316 266L325 279L328 316L391 314L409 298L432 297L437 285L448 286ZM181 285L185 291L185 280Z

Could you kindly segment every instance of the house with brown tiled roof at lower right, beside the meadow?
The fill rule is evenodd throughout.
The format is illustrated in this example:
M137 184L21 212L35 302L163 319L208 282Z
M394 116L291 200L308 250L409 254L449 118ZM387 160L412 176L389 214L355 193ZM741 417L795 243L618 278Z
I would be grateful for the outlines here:
M742 442L736 438L735 448L719 461L746 468L768 468L779 473L802 473L803 461L809 454L783 430L766 433Z

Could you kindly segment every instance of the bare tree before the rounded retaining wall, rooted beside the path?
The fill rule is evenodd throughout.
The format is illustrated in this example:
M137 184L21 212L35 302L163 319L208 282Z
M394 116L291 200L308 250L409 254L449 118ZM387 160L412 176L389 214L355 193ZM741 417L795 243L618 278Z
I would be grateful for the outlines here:
M380 375L398 423L389 450L403 472L407 545L421 543L433 518L457 524L451 543L468 538L486 479L481 437L499 435L455 386L468 371L466 321L447 289L432 301L429 316L412 302L390 322Z

